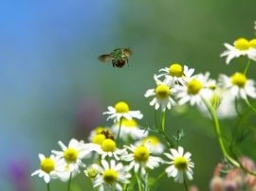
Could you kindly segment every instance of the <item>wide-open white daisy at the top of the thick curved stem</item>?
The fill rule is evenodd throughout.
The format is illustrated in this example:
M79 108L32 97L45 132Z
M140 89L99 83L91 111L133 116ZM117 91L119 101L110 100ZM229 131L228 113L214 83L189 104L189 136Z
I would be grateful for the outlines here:
M189 102L192 106L202 104L202 97L210 99L215 88L214 80L209 78L209 73L199 74L191 78L184 86L175 86L178 104Z

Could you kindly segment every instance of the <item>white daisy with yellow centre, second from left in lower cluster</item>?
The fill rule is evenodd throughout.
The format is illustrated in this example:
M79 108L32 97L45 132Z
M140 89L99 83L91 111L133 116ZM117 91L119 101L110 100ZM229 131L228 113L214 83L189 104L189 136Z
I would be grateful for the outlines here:
M58 142L63 151L52 150L52 153L56 154L62 159L64 166L63 171L66 172L66 180L68 180L70 173L72 176L80 172L79 167L85 167L82 164L83 158L90 157L93 150L97 151L99 148L96 144L84 144L83 141L77 141L76 139L71 139L68 147L65 147L63 142ZM69 175L68 175L69 174ZM63 181L65 181L65 178Z

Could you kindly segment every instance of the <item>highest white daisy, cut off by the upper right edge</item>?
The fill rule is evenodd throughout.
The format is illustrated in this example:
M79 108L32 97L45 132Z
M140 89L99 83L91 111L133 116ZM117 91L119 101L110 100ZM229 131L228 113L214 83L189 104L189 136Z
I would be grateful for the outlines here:
M248 41L245 38L237 39L233 45L224 43L227 50L221 54L221 57L227 57L226 63L241 56L247 56L249 60L256 61L256 39Z

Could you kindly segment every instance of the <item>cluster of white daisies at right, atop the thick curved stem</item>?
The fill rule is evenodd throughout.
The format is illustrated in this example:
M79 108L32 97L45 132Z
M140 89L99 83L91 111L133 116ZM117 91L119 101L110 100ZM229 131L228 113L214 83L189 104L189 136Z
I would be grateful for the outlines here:
M230 77L221 74L216 80L210 78L209 72L194 74L194 69L179 63L172 63L159 72L163 73L154 76L155 88L147 90L145 96L154 96L150 105L155 106L155 110L160 108L162 112L186 103L196 105L205 112L205 101L210 104L217 101L217 111L224 118L234 115L235 99L256 98L255 81L239 72Z

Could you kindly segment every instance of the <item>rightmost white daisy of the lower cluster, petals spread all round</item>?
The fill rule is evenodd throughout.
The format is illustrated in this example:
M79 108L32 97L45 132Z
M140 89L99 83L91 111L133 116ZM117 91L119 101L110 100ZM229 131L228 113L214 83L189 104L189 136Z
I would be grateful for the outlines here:
M171 148L171 153L164 153L171 162L165 171L168 177L173 177L175 182L183 183L185 176L188 180L192 180L192 168L194 164L191 162L192 154L190 152L184 153L184 149L178 147L177 149Z

